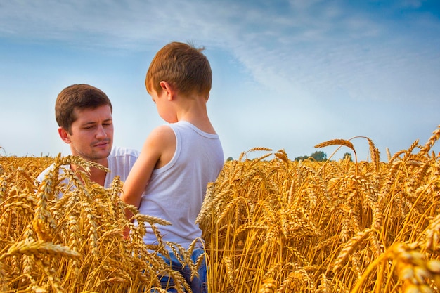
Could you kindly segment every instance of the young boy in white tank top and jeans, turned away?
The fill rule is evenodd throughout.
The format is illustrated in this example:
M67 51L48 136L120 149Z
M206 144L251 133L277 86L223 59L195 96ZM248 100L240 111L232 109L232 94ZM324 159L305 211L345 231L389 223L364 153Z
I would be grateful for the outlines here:
M224 164L219 136L207 115L212 72L202 50L172 42L153 58L145 86L160 117L168 124L153 129L146 138L122 195L124 202L138 207L142 214L172 223L160 226L164 241L188 248L193 240L200 239L193 261L204 253L202 230L195 219L207 183L216 181ZM131 216L127 211L127 218ZM145 243L154 244L156 240L148 229ZM171 250L169 254L173 269L181 271L193 292L207 292L206 263L199 278L190 280L188 266L182 270ZM164 285L167 281L172 280L164 280Z

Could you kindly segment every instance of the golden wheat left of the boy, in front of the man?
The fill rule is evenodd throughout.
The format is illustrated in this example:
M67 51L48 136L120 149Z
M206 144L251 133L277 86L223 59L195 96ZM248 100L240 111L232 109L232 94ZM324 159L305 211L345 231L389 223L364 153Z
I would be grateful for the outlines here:
M55 167L46 178L34 180L51 163ZM65 169L70 184L61 185L58 170L71 163L85 171ZM0 157L0 166L0 292L138 292L160 287L159 273L174 278L178 292L188 289L154 253L164 247L124 239L122 230L131 222L119 199L119 178L112 188L102 188L86 173L98 166L71 156ZM164 224L148 216L138 219ZM134 227L133 235L143 235L141 227Z

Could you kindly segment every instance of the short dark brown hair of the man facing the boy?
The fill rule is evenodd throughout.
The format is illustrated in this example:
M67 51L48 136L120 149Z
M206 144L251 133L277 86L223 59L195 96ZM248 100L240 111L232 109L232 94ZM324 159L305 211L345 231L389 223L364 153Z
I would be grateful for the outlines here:
M113 110L110 99L101 89L89 84L72 84L58 93L55 102L55 119L58 126L72 134L72 123L77 119L75 108L95 109L103 105L109 105L110 110Z

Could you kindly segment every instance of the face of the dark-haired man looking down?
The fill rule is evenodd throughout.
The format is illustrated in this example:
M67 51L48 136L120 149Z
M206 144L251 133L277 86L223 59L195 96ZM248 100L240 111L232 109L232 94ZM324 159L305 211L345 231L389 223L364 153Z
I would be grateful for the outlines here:
M113 120L109 105L95 109L75 108L77 119L72 123L71 134L65 129L58 132L65 143L70 144L72 155L88 161L107 165L107 157L112 150Z

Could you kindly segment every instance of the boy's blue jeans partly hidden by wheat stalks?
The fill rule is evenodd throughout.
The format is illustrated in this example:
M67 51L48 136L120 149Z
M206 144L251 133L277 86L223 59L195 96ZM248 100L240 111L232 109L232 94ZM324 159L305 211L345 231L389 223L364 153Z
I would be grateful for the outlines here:
M193 254L191 255L191 260L193 263L195 263L198 259L198 257L205 253L205 249L198 248L193 250ZM186 282L190 285L191 290L193 293L207 293L208 292L208 285L207 285L207 266L206 266L206 259L205 256L203 257L203 261L200 264L198 268L199 276L194 276L193 280L190 280L191 276L191 269L188 266L185 266L182 269L182 265L179 262L179 260L176 258L176 256L169 252L169 259L166 256L163 256L162 254L159 254L162 256L162 259L166 261L168 264L171 260L171 267L174 271L178 271L181 273L183 278L185 278ZM168 275L162 275L159 276L160 278L160 285L162 285L162 288L167 288L174 286L174 281L172 278L169 278ZM168 289L168 292L177 292L176 289Z

